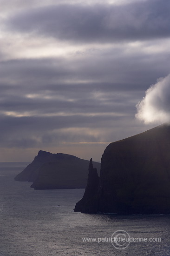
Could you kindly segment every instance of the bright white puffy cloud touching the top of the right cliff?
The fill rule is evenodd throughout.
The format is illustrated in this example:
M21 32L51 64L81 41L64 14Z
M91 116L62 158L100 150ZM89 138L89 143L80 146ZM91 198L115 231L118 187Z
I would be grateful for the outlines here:
M147 123L170 122L170 74L159 78L137 104L137 119Z

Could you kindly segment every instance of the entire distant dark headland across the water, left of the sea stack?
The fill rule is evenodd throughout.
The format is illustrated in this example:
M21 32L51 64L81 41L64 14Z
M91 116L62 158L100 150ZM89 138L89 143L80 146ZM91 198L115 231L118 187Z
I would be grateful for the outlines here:
M39 151L33 162L16 181L33 182L34 189L84 189L87 185L89 161L74 155ZM100 163L94 162L100 170Z

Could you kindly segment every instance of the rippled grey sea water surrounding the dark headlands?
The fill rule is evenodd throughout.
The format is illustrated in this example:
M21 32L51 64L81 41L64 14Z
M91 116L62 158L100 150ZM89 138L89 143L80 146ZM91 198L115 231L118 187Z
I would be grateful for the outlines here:
M33 190L14 181L26 165L0 163L0 256L170 255L170 216L75 213L84 189ZM131 242L112 244L116 231Z

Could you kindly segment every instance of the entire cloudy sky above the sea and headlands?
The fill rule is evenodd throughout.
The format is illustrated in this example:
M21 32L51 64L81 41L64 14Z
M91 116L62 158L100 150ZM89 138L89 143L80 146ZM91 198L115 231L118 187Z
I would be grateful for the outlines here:
M169 0L0 0L0 162L100 161L170 121Z

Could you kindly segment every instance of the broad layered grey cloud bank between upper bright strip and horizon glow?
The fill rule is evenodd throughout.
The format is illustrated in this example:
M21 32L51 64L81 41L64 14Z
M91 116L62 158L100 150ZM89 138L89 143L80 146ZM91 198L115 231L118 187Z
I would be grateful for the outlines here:
M169 73L169 59L166 53L114 53L0 62L1 113L33 112L0 116L1 146L45 148L63 141L115 141L141 132L142 126L127 123L148 85ZM59 112L65 116L48 116Z

